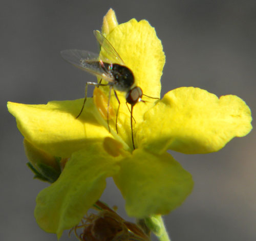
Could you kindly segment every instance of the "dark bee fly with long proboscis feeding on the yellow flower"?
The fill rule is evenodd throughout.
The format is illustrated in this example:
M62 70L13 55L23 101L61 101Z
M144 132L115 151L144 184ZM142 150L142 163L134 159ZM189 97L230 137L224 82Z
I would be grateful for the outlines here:
M89 51L84 51L84 50L63 50L60 52L62 58L68 61L69 63L75 65L78 68L81 68L82 70L87 71L88 73L96 77L99 77L101 80L103 79L108 82L107 84L102 84L100 80L99 83L95 83L95 82L86 83L86 91L85 91L86 95L83 101L81 111L76 118L80 116L80 114L82 113L84 104L86 103L88 85L94 85L97 87L109 86L110 91L109 91L108 111L107 111L106 119L108 122L108 128L110 132L109 106L110 106L111 91L113 89L115 97L118 101L118 108L116 113L116 131L118 133L117 115L120 107L120 101L118 99L116 90L126 92L126 104L129 103L131 105L130 112L131 112L132 142L133 142L133 148L135 149L134 137L133 137L133 107L137 102L140 102L140 101L144 102L143 100L141 100L141 97L143 95L142 89L138 86L134 86L135 81L134 81L134 75L132 70L125 66L121 57L115 51L111 43L98 30L94 31L94 35L98 40L101 46L101 49L104 49L105 53L108 56L110 56L111 59L114 59L114 61L110 61L108 59L105 59L103 61L101 58L99 58L99 55L91 53Z

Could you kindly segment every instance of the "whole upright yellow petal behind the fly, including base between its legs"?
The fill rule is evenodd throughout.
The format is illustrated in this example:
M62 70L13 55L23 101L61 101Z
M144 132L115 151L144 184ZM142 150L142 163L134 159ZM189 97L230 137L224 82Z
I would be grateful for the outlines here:
M153 97L160 97L162 70L165 63L165 55L161 41L158 39L155 29L151 27L146 20L137 21L132 19L128 22L122 23L115 27L106 38L113 45L114 49L122 58L123 62L129 67L135 77L135 85L139 86L143 93ZM108 58L113 63L115 58L107 55L104 50L101 51L101 56ZM106 96L109 96L108 90ZM118 135L132 147L131 142L131 125L130 125L130 111L126 106L125 94L117 91L118 98L121 102L117 124ZM143 113L152 106L154 99L142 97L147 103L137 103L134 107L134 129L143 119ZM117 109L118 102L114 96L111 95L111 104ZM115 126L112 125L113 131Z

